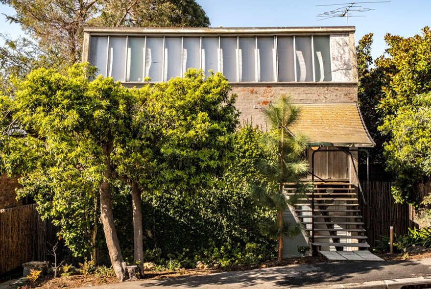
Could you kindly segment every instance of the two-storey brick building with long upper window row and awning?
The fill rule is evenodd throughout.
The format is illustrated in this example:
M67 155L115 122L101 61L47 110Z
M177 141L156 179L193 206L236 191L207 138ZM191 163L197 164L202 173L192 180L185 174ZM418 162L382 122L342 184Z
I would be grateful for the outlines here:
M358 148L374 146L358 107L354 27L86 28L83 61L124 86L182 77L189 68L222 72L238 95L241 120L265 130L262 108L282 93L301 107L292 134L310 139L315 191L285 217L304 234L285 246L367 248L359 216ZM287 195L289 191L287 190ZM292 245L292 243L294 245Z

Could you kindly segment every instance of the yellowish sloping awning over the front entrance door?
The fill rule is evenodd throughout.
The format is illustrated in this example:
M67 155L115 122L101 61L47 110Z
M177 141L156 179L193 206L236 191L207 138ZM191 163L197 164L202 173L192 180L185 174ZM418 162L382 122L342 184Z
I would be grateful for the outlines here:
M301 112L290 127L293 135L309 138L311 146L357 146L373 147L371 138L358 104L353 103L307 103L296 104Z

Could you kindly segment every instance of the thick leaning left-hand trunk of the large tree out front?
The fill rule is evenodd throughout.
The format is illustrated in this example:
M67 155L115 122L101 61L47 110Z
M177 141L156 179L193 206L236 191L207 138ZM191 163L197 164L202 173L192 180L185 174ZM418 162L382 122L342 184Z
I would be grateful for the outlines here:
M112 151L112 145L105 145L103 147L103 154L105 156L106 169L103 173L103 181L99 185L100 193L100 218L103 224L103 232L105 233L106 245L108 247L109 257L111 264L114 268L115 275L120 281L127 279L126 263L123 261L121 255L120 243L117 237L117 231L114 225L114 213L112 211L111 188L109 179L111 176L111 159L109 157Z

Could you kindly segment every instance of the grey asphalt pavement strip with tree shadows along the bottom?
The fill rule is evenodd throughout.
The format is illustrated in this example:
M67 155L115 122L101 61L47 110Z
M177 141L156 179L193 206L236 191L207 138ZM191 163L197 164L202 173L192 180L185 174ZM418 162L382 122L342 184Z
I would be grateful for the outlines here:
M162 280L92 286L92 289L300 288L431 276L431 259L401 262L333 262L289 265ZM80 289L89 288L81 287Z

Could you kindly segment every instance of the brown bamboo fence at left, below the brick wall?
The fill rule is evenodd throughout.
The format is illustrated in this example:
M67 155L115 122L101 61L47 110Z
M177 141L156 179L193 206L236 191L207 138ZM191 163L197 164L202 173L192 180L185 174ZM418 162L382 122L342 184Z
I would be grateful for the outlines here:
M0 275L25 262L50 261L56 233L50 220L41 220L36 204L0 210ZM59 242L58 258L62 250Z

